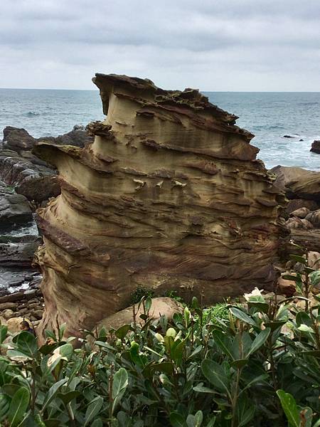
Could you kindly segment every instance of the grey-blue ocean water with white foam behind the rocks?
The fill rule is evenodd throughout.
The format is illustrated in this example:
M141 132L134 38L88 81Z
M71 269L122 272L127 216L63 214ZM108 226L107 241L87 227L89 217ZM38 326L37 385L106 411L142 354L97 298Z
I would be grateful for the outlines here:
M320 170L320 154L309 151L320 139L320 93L205 94L255 135L251 143L260 148L257 157L267 168ZM0 89L0 132L10 125L24 127L33 137L57 136L103 117L97 90Z

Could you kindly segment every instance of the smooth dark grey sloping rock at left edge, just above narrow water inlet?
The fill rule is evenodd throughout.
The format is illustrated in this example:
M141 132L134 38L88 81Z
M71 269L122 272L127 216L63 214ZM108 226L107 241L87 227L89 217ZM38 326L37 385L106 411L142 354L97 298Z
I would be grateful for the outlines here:
M28 200L0 182L0 231L33 220Z

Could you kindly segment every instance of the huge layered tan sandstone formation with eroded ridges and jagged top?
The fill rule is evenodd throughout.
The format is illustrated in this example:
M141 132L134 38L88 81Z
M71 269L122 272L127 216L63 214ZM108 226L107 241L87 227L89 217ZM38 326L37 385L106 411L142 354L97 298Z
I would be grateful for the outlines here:
M137 287L204 303L274 280L279 204L249 132L198 90L97 74L105 122L85 148L38 144L61 195L38 211L42 328L93 327Z

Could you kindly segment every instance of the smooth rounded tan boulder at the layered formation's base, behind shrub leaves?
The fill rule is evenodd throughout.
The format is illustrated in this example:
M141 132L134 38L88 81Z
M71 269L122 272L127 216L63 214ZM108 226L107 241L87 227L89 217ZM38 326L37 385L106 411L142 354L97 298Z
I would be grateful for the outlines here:
M134 310L136 312L136 322L143 324L144 321L139 317L144 314L144 309L142 305L139 307L138 304L134 305ZM151 319L157 320L161 316L166 316L168 320L171 320L174 313L183 312L183 307L181 304L176 302L169 297L156 297L152 298L152 304L149 311L149 317ZM102 319L97 324L97 330L99 331L102 327L105 327L106 330L111 328L117 330L122 325L130 325L134 321L133 317L133 305L127 307L124 310L121 310L114 315Z

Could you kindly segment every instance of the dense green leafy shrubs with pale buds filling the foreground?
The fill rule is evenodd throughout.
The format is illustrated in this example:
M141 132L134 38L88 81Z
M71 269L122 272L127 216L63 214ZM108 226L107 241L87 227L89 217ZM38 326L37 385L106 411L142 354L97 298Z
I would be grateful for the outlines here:
M299 296L272 302L256 289L214 320L196 297L171 322L153 320L143 297L139 322L86 331L78 349L63 326L40 348L16 334L0 358L1 425L319 427L320 272L306 268Z

